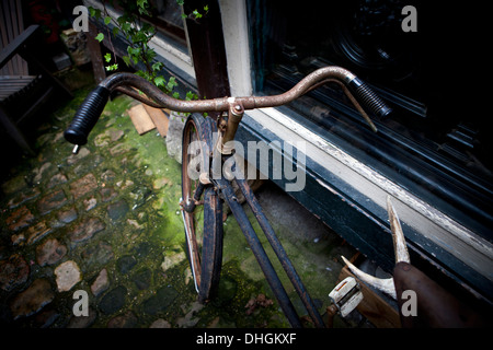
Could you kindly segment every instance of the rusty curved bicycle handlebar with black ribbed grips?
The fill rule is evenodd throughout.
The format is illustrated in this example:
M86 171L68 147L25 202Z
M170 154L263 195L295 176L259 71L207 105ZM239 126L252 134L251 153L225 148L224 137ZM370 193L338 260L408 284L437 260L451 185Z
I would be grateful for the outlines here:
M347 86L356 95L356 98L363 102L375 115L385 117L391 112L391 108L367 84L341 67L320 68L303 78L293 89L279 95L236 97L234 102L241 103L244 109L276 107L300 97L314 86L330 80L336 80ZM67 141L78 145L88 142L88 136L103 112L111 92L117 88L136 88L152 100L154 105L176 112L226 112L231 104L229 97L198 101L176 100L168 96L144 78L131 73L116 73L102 81L82 102L72 122L64 133ZM136 95L133 95L133 97L136 97Z

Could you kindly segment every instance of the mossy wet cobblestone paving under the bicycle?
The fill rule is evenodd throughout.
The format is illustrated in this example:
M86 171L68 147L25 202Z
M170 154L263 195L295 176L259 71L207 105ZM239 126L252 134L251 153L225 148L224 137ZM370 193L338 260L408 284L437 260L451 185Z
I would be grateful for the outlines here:
M218 295L197 302L184 250L180 164L156 130L136 132L126 113L136 102L111 101L88 144L71 154L62 131L88 92L47 118L37 155L12 166L1 185L0 325L288 327L231 217ZM285 194L267 187L259 196L273 208ZM285 223L296 234L310 232L297 241L275 210L267 215L323 313L342 268L336 257L354 252L322 224ZM88 315L80 315L83 301Z

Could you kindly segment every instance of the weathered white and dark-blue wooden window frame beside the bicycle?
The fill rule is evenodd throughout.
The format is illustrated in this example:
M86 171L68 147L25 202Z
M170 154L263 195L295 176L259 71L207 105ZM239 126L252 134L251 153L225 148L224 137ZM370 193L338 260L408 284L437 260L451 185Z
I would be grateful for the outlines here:
M254 72L245 0L219 0L219 5L232 96L252 95ZM295 115L297 113L287 107L248 110L237 137L241 142L256 138L267 143L273 140L307 143L306 175L310 183L308 186L312 188L289 195L365 255L391 270L393 250L386 209L387 197L390 196L413 255L435 268L438 266L452 280L466 280L467 289L478 289L479 293L485 294L491 291L493 245L490 242L349 155L336 145L336 141L322 138L309 127L309 122L301 124ZM283 150L278 152L284 154ZM284 180L273 180L284 188ZM317 194L333 198L325 200ZM334 211L325 206L330 201L345 202L347 210L354 211L354 215L365 223L363 228L360 223L334 219ZM348 218L354 215L348 214ZM352 224L366 232L356 232ZM387 233L386 237L382 237L382 232Z

